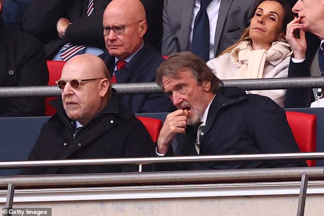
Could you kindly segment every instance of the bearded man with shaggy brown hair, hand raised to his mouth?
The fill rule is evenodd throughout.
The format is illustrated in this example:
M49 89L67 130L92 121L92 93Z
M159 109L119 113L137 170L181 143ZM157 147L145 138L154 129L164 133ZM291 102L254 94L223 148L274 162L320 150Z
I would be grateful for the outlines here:
M170 56L156 82L178 110L167 115L155 154L234 155L299 152L284 109L271 99L223 83L196 55ZM177 146L170 145L176 138ZM186 170L307 166L305 161L182 164Z

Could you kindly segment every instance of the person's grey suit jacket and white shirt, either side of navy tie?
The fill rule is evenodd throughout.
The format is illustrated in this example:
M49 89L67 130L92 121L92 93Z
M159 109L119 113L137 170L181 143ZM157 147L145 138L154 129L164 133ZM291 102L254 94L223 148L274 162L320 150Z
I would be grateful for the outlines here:
M210 26L210 59L233 45L249 26L259 0L213 0L207 8ZM165 0L162 55L191 51L194 20L200 0ZM214 37L213 37L214 36Z

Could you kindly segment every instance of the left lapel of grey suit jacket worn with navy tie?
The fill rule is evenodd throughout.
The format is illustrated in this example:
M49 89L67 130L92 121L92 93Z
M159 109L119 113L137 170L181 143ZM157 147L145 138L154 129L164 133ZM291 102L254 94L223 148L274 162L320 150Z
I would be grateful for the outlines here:
M189 35L191 31L191 21L193 19L193 11L195 0L182 1L182 20L180 29L180 51L187 50L189 43Z

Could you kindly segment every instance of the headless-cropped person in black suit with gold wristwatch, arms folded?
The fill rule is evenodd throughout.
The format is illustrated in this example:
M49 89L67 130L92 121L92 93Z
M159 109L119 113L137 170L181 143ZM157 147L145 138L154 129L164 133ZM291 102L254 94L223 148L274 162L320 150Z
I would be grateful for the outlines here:
M24 30L43 42L49 60L62 60L61 50L69 42L85 45L84 53L100 55L105 43L99 29L109 0L93 3L88 13L89 0L33 0L24 14Z

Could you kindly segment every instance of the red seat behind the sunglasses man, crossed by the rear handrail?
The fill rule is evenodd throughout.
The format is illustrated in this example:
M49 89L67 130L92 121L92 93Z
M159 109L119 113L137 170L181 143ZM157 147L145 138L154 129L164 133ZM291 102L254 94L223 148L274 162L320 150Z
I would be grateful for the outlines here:
M48 85L56 85L55 81L59 80L62 73L62 68L65 61L47 61L47 67L49 68L50 79ZM45 115L52 116L56 113L56 110L49 105L49 102L56 97L48 97L45 101Z

